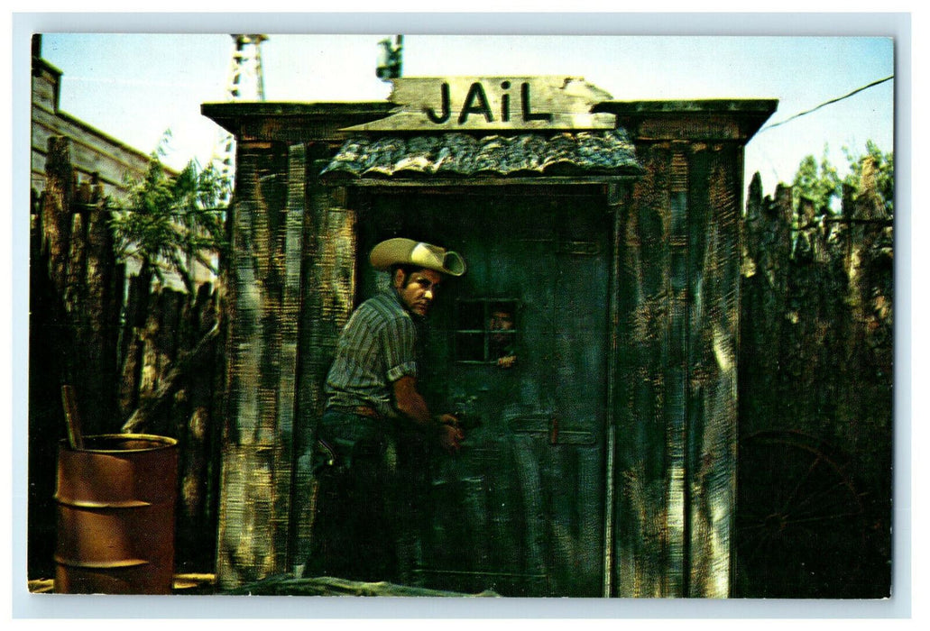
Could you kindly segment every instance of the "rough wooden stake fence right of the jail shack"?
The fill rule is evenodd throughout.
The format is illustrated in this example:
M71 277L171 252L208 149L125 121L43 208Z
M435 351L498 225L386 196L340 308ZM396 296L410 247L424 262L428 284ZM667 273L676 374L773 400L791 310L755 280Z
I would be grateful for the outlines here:
M870 170L837 215L751 182L737 595L890 593L893 217Z

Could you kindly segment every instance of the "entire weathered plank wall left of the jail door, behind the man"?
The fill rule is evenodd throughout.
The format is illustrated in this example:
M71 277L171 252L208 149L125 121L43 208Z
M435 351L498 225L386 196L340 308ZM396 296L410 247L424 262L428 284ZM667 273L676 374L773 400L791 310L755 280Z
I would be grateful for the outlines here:
M339 332L352 313L355 214L317 175L325 143L239 149L227 317L218 585L306 559L313 432Z

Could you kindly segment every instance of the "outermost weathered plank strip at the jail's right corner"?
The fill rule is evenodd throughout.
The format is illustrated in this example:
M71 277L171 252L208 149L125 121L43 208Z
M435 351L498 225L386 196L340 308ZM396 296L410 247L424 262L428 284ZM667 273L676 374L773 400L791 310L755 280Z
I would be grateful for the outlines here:
M689 156L688 597L730 595L737 471L741 149Z

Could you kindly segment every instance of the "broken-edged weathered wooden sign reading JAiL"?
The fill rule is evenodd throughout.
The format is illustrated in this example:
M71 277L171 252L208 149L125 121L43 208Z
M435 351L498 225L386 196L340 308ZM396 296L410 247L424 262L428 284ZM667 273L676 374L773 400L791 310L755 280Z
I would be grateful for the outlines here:
M387 118L351 131L612 129L614 115L591 113L611 96L584 79L405 77L393 79Z

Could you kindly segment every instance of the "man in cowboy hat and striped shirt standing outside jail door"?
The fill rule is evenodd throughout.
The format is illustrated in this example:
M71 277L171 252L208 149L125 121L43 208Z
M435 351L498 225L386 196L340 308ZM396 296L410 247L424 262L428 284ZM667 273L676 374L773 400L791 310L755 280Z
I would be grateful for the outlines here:
M455 454L464 439L455 416L432 414L417 380L419 325L445 277L461 276L465 262L455 252L409 239L381 242L369 258L373 268L390 273L390 286L352 313L326 377L305 576L396 581L401 519L416 504L412 487L398 480L410 446L405 443Z

